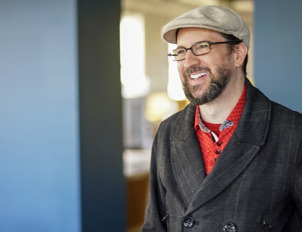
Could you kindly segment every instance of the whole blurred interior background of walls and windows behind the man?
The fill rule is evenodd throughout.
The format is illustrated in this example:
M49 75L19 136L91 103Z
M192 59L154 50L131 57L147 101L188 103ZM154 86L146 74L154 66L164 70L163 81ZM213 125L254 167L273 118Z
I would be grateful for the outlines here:
M251 30L248 78L302 112L300 0L1 0L0 231L140 231L153 137L188 102L161 38L201 5Z

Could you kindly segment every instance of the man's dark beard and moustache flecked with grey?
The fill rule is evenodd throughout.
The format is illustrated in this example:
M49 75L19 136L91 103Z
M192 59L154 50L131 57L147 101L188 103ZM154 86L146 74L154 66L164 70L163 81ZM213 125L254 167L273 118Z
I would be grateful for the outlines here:
M205 89L204 93L195 97L194 92L197 92L201 86L200 85L190 85L186 76L188 74L198 71L207 71L210 77L210 84ZM226 85L229 83L232 76L232 70L228 69L225 65L220 65L217 68L217 73L219 76L214 76L209 68L195 67L191 69L186 69L183 73L184 81L182 81L182 89L185 93L186 98L194 105L203 105L210 101L216 99L226 88Z

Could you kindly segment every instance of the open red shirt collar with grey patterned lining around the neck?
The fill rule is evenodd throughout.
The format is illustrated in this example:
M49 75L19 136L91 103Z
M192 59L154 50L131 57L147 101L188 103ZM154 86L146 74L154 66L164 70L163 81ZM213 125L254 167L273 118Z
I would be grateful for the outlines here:
M234 109L232 110L230 115L226 118L226 120L220 125L220 127L219 127L220 131L223 131L226 128L229 128L230 126L233 126L234 124L238 123L239 118L243 111L245 100L246 100L246 84L244 85L243 92L242 92L236 106L234 107ZM198 127L204 132L210 132L210 130L204 125L204 123L201 120L199 106L197 105L196 111L195 111L195 121L194 121L195 131L198 130Z

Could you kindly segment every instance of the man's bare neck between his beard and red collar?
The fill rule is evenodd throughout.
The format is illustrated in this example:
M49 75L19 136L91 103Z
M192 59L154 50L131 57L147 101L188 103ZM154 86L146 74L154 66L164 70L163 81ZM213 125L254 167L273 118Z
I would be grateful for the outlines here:
M226 89L215 100L199 106L201 118L209 123L221 124L236 106L244 89L244 79L229 82Z

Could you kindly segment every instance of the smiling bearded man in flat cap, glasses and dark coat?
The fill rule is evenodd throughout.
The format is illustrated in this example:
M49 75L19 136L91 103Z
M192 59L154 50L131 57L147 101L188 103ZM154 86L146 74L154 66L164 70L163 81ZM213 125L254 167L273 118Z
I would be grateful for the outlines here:
M200 7L163 38L177 44L169 56L191 103L154 139L142 231L300 232L302 115L246 79L242 18Z

